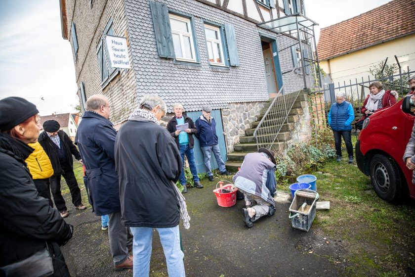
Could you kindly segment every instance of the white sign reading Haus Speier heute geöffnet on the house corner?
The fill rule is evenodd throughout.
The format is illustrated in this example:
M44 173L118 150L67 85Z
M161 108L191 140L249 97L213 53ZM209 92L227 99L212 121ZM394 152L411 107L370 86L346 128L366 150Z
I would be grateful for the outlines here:
M108 54L111 66L117 68L131 68L128 57L127 39L115 36L106 36Z

